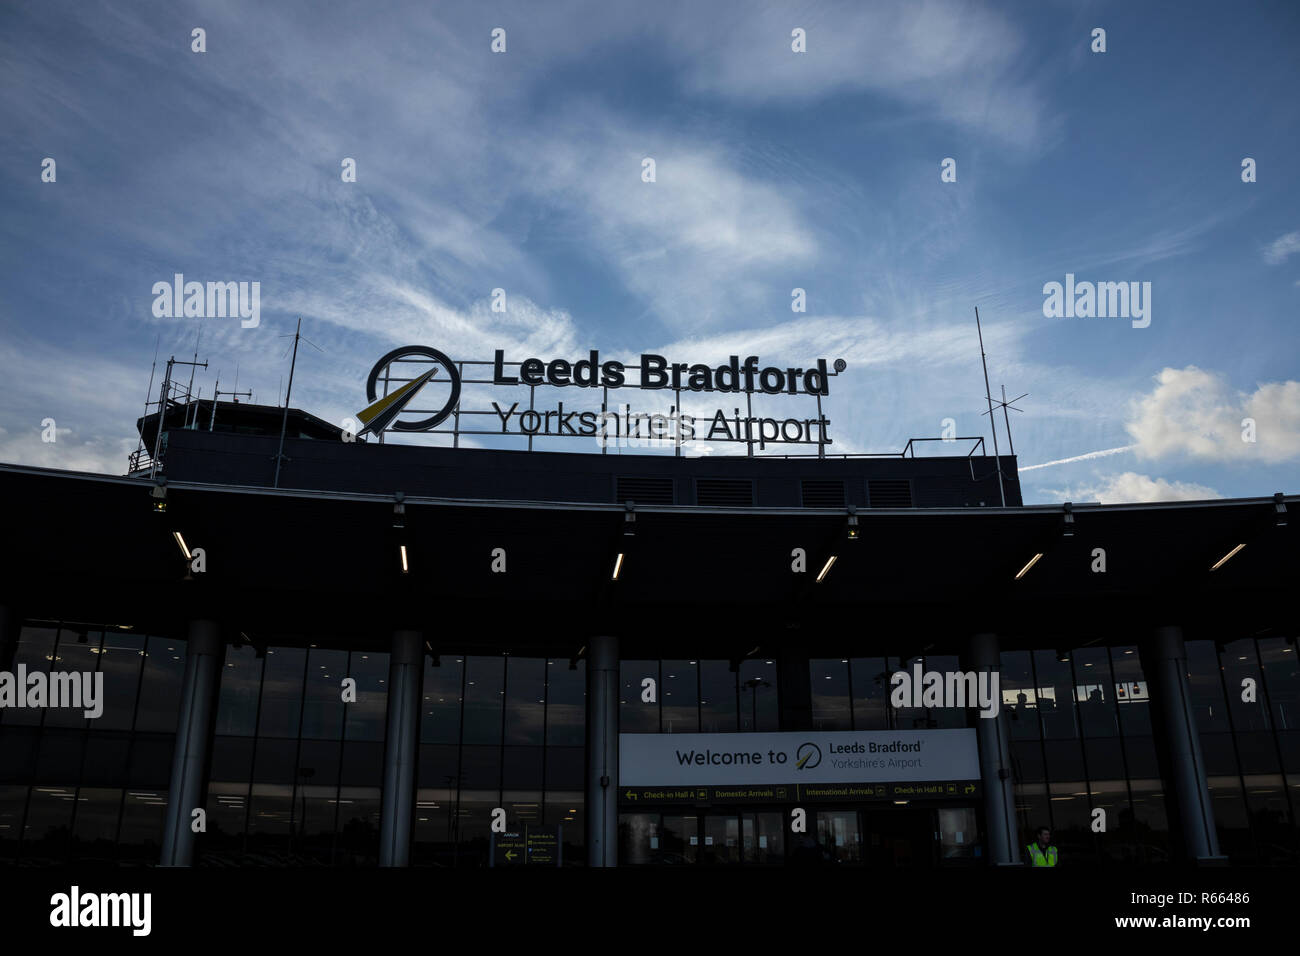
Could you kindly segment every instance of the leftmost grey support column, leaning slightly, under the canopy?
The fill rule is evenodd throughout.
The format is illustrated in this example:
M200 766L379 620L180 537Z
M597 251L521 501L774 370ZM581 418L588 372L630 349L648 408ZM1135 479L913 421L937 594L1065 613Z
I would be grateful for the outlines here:
M199 618L190 622L185 687L176 722L172 779L168 783L166 826L159 860L161 866L190 866L194 862L192 813L203 806L222 652L221 626L216 620Z

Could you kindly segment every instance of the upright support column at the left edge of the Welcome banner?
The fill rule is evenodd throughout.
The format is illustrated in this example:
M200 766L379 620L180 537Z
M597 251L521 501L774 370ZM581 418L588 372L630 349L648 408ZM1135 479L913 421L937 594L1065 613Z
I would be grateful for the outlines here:
M586 658L586 861L619 865L619 640L593 637Z

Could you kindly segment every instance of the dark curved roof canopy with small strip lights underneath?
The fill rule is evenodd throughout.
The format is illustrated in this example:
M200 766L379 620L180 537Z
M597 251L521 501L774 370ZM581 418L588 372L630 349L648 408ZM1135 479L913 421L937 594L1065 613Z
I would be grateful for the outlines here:
M153 484L138 479L0 466L0 600L36 617L183 630L217 615L304 643L380 641L393 627L462 646L612 631L628 657L784 640L867 654L900 635L982 630L1043 646L1160 623L1232 639L1296 624L1297 531L1279 525L1273 498L1078 505L1070 535L1061 506L880 509L859 512L850 541L842 510L638 506L628 522L618 503L412 497L395 528L391 496L169 483L157 514ZM1297 501L1284 498L1292 514ZM176 532L204 550L191 580Z

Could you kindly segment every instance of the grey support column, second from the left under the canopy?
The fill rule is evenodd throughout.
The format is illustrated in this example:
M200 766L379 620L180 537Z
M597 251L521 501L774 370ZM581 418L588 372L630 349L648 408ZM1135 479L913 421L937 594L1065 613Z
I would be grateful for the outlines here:
M389 726L384 743L384 803L380 812L380 866L411 865L415 814L416 743L420 739L420 684L424 644L419 631L394 631L389 658Z

